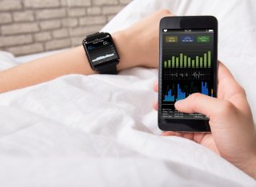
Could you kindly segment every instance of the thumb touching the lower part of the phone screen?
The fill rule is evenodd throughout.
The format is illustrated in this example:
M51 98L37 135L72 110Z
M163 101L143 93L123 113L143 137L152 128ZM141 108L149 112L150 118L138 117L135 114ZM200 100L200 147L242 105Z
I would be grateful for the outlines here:
M216 116L219 109L222 109L223 101L205 94L191 94L186 99L175 102L175 108L183 113L202 113L207 117Z

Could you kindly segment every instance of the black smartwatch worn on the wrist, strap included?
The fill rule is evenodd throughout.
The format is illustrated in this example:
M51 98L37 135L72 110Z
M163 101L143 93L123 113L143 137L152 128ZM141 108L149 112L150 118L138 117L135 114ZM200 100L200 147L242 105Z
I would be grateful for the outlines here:
M90 34L82 41L82 46L92 70L98 71L99 74L118 73L118 51L109 33Z

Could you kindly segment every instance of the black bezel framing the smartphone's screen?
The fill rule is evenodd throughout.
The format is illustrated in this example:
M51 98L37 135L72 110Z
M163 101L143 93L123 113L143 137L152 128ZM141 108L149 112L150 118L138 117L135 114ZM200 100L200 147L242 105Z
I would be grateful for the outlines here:
M214 29L214 97L217 97L218 82L218 20L214 16L172 16L162 18L159 30L158 69L158 127L162 130L178 132L210 132L209 120L165 119L162 109L162 29L202 30Z

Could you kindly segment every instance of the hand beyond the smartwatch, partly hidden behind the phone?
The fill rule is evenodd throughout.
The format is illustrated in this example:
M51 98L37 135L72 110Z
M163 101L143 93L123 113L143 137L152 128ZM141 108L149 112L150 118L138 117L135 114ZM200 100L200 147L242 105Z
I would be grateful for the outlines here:
M158 10L126 30L113 34L118 54L125 68L132 66L158 67L159 22L161 18L171 16L169 10ZM122 64L120 64L121 66ZM120 68L122 70L124 68Z

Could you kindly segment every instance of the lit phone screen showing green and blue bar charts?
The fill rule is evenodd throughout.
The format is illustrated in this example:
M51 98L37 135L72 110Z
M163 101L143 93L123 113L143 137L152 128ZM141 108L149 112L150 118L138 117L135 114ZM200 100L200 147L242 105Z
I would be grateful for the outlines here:
M162 30L162 117L209 119L179 113L175 101L193 93L214 97L214 30Z

